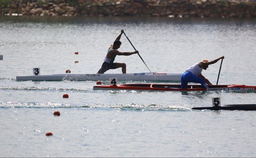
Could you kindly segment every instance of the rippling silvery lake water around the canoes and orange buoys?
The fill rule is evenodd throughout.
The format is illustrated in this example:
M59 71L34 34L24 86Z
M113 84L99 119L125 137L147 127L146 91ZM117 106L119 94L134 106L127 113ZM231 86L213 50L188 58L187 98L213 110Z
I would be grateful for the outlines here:
M94 91L92 81L16 80L35 67L96 73L121 29L151 71L182 73L224 55L218 84L256 85L255 19L0 16L0 157L256 156L255 111L191 109L216 97L256 104L255 92ZM124 35L120 41L119 51L134 51ZM127 73L148 72L138 55L115 61ZM220 61L202 74L216 84L219 69Z

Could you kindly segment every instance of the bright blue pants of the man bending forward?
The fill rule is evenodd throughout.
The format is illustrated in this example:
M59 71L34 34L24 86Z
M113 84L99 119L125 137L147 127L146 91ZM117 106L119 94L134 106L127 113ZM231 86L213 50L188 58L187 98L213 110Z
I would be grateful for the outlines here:
M188 82L201 84L203 88L209 88L202 78L192 74L192 72L184 72L181 76L181 88L187 88Z

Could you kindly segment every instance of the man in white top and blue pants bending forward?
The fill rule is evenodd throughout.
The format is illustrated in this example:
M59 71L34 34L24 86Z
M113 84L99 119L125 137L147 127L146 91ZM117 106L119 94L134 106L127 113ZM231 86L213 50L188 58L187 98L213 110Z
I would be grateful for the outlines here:
M206 70L210 64L214 64L220 59L224 59L224 56L212 61L203 60L190 66L181 76L181 88L187 88L188 82L199 83L203 88L209 88L208 85L212 84L202 75L202 70Z

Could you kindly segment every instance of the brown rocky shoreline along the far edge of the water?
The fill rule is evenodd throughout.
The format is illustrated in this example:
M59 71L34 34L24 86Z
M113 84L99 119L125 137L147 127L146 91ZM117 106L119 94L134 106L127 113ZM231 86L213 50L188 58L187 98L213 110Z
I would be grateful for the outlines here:
M256 0L0 0L0 15L256 18Z

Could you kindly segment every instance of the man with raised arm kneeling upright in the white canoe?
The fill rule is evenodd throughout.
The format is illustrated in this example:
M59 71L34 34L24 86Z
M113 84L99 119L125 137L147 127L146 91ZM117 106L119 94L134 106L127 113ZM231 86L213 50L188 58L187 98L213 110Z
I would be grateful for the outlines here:
M120 35L116 38L116 41L114 41L113 45L111 45L108 48L108 53L104 59L104 62L98 70L97 74L104 74L109 69L116 69L116 68L121 68L122 67L122 73L126 74L126 64L125 63L119 63L119 62L114 62L116 55L132 55L139 53L139 51L134 51L134 52L119 52L117 49L120 48L120 45L122 44L119 40L124 33L124 30L121 30Z

